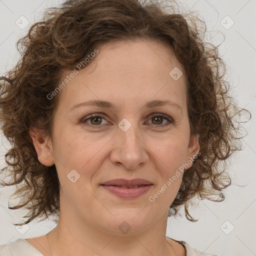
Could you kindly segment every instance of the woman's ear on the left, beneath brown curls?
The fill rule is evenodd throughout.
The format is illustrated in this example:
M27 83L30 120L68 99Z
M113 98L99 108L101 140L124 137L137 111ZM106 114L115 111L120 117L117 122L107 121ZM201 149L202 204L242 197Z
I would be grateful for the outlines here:
M45 137L43 130L30 126L29 134L33 140L39 162L45 166L53 165L52 145L48 137Z

